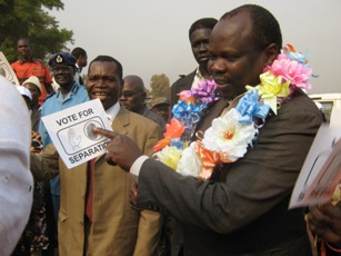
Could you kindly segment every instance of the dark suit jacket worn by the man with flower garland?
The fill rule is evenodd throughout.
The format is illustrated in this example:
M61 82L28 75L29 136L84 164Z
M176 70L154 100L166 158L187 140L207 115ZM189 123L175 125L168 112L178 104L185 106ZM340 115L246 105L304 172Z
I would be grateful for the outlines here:
M267 118L253 148L209 181L146 160L138 206L185 224L184 255L311 255L304 210L288 205L320 124L315 105L298 91Z

